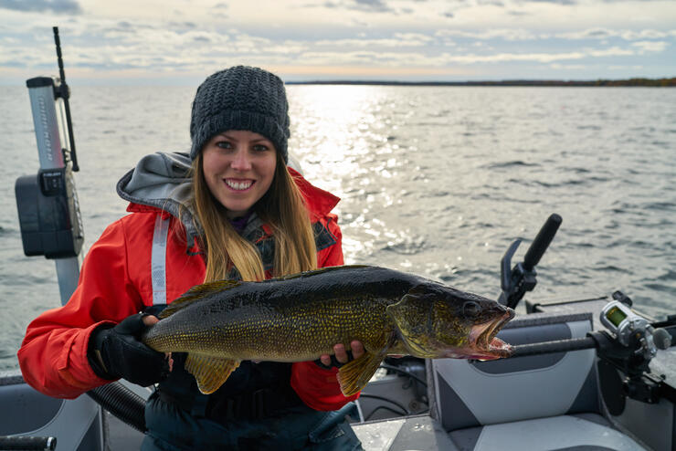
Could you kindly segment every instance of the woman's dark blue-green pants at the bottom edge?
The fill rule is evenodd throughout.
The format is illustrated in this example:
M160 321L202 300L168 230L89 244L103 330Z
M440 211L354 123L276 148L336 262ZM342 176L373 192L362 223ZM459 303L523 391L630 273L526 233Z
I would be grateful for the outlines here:
M156 393L145 407L148 433L142 451L241 449L280 451L309 449L347 451L363 449L345 421L349 407L318 412L297 405L259 420L228 420L221 424L193 416Z

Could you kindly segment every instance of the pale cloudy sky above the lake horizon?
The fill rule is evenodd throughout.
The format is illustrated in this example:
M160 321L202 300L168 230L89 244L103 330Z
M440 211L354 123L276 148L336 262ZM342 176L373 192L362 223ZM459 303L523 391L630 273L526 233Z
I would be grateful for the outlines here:
M0 85L676 77L676 0L0 0Z

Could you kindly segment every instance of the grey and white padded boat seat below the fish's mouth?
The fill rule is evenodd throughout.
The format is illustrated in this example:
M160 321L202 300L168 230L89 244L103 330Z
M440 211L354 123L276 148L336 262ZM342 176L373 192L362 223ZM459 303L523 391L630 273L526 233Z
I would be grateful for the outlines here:
M512 345L584 337L591 313L532 314L499 337ZM428 361L432 416L459 450L642 450L601 414L594 350L491 362Z

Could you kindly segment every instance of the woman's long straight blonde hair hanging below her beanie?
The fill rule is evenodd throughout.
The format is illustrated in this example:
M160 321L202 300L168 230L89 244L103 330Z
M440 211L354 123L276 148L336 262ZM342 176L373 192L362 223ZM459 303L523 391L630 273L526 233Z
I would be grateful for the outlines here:
M235 267L242 280L265 278L263 261L256 246L240 236L226 216L226 208L211 194L204 175L202 153L192 166L192 206L204 235L201 246L206 256L205 282L227 278ZM317 267L317 246L301 191L278 153L275 175L268 192L253 209L272 229L275 242L273 277Z

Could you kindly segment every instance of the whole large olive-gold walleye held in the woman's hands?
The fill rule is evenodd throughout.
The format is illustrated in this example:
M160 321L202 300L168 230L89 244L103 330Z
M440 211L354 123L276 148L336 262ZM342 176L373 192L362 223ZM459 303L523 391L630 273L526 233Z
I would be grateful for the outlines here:
M492 360L514 311L494 300L384 267L325 267L261 282L222 280L175 299L143 336L155 351L187 352L185 369L213 393L243 360L303 362L333 345L364 343L343 365L344 395L359 392L387 354Z

